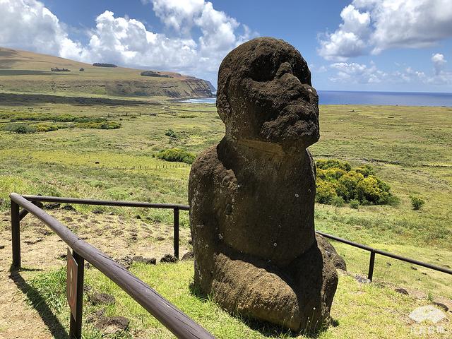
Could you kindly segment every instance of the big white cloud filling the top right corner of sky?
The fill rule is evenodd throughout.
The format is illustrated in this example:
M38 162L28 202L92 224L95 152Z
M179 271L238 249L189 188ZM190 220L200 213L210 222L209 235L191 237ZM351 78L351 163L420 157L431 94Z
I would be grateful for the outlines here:
M354 0L340 16L339 28L320 39L319 55L328 60L431 47L452 37L450 0Z

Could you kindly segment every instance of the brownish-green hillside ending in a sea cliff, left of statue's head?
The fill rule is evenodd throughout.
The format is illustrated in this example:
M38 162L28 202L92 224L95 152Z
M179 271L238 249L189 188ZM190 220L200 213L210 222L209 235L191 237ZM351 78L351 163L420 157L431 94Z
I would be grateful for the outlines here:
M69 69L51 71L51 69ZM84 69L84 71L79 71ZM0 91L165 97L211 97L213 86L179 73L141 76L142 70L95 67L45 54L0 47Z

